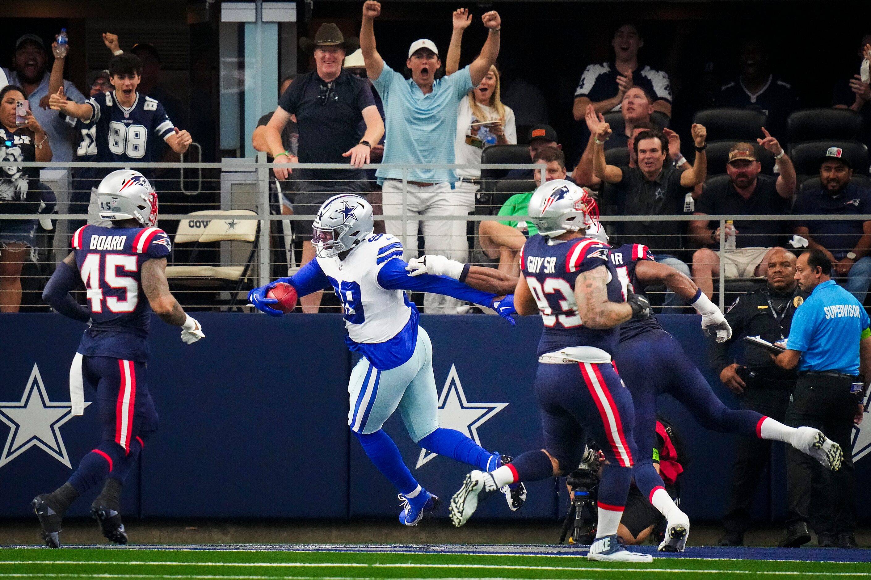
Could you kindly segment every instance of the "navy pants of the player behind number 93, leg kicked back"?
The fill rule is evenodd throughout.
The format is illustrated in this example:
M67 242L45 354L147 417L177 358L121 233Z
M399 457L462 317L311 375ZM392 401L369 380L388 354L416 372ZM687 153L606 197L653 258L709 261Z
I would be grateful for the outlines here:
M726 407L714 395L680 343L665 330L648 331L621 342L615 361L635 405L632 430L638 448L635 484L648 499L655 489L665 487L653 467L658 395L672 395L706 429L746 437L759 436L757 429L763 415Z

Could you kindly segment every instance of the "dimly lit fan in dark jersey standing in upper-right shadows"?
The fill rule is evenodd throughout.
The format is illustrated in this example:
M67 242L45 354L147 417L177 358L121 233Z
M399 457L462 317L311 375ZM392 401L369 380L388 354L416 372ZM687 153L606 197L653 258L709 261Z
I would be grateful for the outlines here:
M786 132L789 113L799 108L793 86L775 77L768 68L768 53L760 40L746 39L739 48L739 78L726 83L715 98L719 107L762 111L775 133Z

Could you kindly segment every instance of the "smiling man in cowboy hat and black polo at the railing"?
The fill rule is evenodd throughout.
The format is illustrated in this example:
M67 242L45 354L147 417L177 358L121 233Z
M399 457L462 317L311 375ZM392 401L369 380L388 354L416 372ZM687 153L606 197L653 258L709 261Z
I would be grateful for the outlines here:
M384 122L375 107L372 91L365 79L355 77L341 68L347 52L360 47L354 37L344 38L335 24L322 24L314 42L300 39L300 48L314 51L315 71L300 75L279 98L279 106L267 123L267 152L276 164L285 163L349 163L348 169L296 169L298 193L294 213L314 215L324 201L339 192L369 191L366 172L369 150L384 134ZM281 132L291 115L299 126L299 157L287 152L281 143ZM361 121L366 132L361 132ZM278 165L275 177L286 179L291 170ZM314 259L312 222L295 221L296 232L303 239L302 264ZM316 313L321 304L321 292L300 298L302 312Z

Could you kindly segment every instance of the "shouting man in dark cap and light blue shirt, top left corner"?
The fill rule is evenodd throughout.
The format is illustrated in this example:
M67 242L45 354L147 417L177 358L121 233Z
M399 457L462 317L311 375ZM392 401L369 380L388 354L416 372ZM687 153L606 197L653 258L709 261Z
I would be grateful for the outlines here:
M57 111L51 111L48 106L49 96L49 72L45 64L45 44L43 39L35 34L25 34L19 37L15 43L15 69L10 71L3 69L9 84L15 84L24 89L24 94L30 103L30 111L42 125L51 143L52 161L72 161L72 137L73 130L70 125L60 118ZM82 104L84 95L78 91L76 85L70 81L64 81L64 94L66 98ZM40 106L45 99L45 108Z

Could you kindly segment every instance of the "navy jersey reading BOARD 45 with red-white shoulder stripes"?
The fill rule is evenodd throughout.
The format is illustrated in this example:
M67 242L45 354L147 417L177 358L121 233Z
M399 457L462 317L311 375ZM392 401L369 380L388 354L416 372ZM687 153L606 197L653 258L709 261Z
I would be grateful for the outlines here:
M82 226L72 236L84 281L91 327L78 352L147 361L152 308L142 289L142 265L172 249L159 227Z

